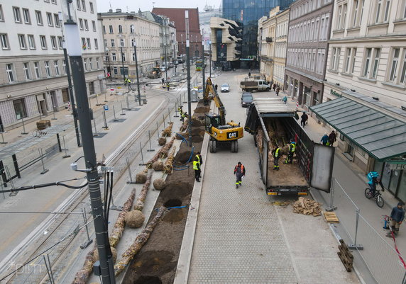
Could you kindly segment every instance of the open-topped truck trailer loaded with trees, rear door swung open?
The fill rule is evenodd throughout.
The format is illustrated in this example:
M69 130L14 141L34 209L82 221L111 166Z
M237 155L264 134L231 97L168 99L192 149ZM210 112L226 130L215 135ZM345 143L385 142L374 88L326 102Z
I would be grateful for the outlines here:
M245 130L254 137L260 173L268 195L307 195L309 187L330 191L334 147L314 143L280 98L254 98ZM292 164L285 164L291 141L296 143ZM273 150L282 150L280 170L273 171Z

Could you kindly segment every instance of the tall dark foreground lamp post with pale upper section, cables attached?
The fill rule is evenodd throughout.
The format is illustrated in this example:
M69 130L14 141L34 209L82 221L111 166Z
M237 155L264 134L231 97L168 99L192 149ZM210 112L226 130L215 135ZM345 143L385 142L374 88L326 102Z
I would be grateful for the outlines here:
M115 284L113 255L107 233L107 220L101 202L99 174L97 172L97 158L94 149L92 123L90 120L89 102L87 101L86 79L84 77L82 45L80 44L79 28L75 22L75 8L72 0L62 1L65 18L65 34L67 50L69 51L72 79L77 99L77 113L80 129L82 130L83 154L89 183L89 198L92 207L94 231L96 235L97 250L100 259L101 283ZM72 15L73 14L73 15ZM73 17L73 18L72 18Z

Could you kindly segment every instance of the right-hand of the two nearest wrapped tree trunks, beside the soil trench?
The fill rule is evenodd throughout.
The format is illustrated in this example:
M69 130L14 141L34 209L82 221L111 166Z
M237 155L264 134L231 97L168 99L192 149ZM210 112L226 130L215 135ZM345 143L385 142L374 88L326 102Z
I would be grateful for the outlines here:
M124 271L126 266L128 266L128 263L130 263L131 259L133 259L138 251L142 249L143 245L146 244L153 232L153 229L158 224L160 217L163 216L165 211L166 209L164 207L159 208L157 215L153 217L153 220L146 226L145 229L143 229L140 234L138 234L133 244L131 244L131 246L129 246L128 249L124 252L124 254L121 256L122 259L114 266L114 272L116 276Z

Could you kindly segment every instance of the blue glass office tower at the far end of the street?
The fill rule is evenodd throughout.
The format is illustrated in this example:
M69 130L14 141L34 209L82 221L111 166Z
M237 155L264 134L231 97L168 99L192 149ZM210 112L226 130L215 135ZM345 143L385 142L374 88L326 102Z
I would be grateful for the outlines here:
M258 20L268 16L276 6L285 9L295 0L222 0L223 18L241 23L243 27L241 68L258 68Z

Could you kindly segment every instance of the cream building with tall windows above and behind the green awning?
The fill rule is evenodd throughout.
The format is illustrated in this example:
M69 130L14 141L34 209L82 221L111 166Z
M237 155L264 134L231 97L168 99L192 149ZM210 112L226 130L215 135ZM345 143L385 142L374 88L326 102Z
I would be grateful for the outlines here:
M406 153L406 1L338 0L332 23L323 101L349 99L376 115L358 124L361 142L335 126L339 147L363 171L378 171L385 188L406 201L406 171L391 166ZM376 159L371 143L383 152L394 149L395 157Z

